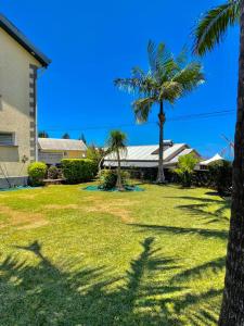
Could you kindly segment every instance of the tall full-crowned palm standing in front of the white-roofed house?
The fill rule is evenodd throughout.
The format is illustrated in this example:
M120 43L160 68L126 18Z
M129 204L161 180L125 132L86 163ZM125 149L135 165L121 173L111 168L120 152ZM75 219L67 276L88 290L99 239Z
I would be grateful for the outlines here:
M150 70L144 72L140 67L132 68L130 78L115 79L120 89L133 91L138 99L132 103L136 118L144 123L149 118L154 104L159 106L159 152L157 183L165 181L164 175L164 124L165 103L175 104L185 93L195 89L204 82L202 65L198 62L187 63L185 51L175 59L164 43L157 47L149 41L147 55Z

